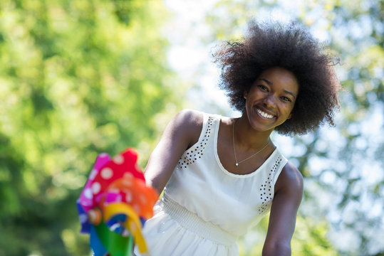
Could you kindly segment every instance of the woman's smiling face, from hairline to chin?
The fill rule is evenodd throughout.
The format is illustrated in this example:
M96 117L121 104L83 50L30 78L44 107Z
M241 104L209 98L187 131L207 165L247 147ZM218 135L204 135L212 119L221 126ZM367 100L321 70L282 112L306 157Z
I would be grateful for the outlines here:
M244 114L255 130L274 129L291 118L298 94L299 84L293 73L284 68L269 68L244 92Z

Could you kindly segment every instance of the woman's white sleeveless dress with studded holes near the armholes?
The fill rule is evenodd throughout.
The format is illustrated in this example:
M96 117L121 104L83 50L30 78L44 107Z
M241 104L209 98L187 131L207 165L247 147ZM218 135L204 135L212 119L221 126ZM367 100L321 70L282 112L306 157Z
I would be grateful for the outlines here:
M204 114L198 142L178 161L145 223L151 256L238 256L237 238L269 212L286 158L275 149L251 174L230 173L217 154L220 119Z

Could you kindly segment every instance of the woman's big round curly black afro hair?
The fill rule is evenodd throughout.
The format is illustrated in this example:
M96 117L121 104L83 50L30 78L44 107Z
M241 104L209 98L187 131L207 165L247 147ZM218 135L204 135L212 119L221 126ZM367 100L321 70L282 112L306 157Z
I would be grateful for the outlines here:
M306 134L324 122L334 125L341 88L333 70L338 60L300 23L252 21L242 41L225 43L213 57L222 68L219 87L227 92L234 109L244 111L244 91L264 70L281 67L295 75L299 95L291 119L275 130L285 135Z

